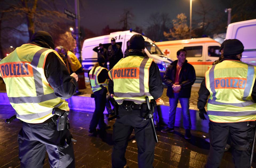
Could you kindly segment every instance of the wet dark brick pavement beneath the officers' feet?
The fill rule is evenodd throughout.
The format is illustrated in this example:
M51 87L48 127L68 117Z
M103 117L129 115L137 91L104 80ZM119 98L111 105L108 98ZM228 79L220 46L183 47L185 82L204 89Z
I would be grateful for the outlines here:
M19 167L17 134L21 123L16 119L9 125L5 119L14 114L11 106L0 106L0 167ZM88 133L89 122L93 113L71 110L69 115L71 133L77 142L74 143L76 167L111 167L113 147L112 127L103 138L92 137ZM107 122L113 125L114 121ZM164 134L157 131L159 143L155 147L154 167L203 167L209 152L209 143L205 141L208 134L191 131L190 140L184 138L184 129L175 128L174 133ZM131 135L126 151L127 164L130 168L137 166L137 144L134 134ZM253 167L256 166L255 159ZM50 167L46 155L44 167ZM225 152L221 168L234 167L231 153Z

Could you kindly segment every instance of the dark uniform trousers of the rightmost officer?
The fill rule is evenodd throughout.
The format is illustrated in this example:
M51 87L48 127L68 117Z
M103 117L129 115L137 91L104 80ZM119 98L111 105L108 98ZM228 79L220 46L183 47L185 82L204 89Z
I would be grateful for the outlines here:
M219 167L230 135L233 142L233 162L235 167L250 167L251 145L254 129L247 122L217 123L209 122L210 151L206 168Z

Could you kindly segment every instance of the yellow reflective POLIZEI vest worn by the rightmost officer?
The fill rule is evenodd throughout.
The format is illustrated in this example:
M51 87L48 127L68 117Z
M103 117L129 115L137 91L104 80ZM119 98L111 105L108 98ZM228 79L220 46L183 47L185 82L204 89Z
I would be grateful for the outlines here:
M210 66L205 73L210 91L207 104L213 122L242 122L256 120L256 104L251 92L256 67L235 60L225 60Z

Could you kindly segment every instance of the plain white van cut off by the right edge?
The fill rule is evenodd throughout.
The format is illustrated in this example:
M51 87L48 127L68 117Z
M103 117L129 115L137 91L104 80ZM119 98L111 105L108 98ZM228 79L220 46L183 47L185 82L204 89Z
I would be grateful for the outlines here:
M226 39L240 40L245 47L242 62L256 66L256 19L229 24Z

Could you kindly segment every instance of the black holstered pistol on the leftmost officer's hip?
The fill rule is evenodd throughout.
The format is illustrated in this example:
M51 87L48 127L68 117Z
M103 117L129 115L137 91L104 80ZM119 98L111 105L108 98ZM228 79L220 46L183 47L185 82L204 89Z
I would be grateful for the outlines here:
M69 111L61 110L59 108L53 108L52 114L54 115L52 119L57 127L57 131L70 129L69 118L67 117L67 115L69 115Z

